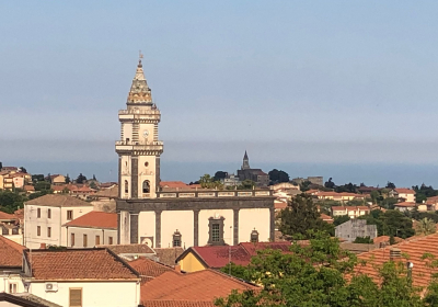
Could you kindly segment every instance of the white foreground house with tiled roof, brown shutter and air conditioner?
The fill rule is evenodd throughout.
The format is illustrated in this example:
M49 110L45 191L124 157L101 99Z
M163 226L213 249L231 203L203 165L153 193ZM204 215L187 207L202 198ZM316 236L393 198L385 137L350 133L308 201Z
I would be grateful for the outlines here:
M23 259L28 293L60 306L140 304L139 274L107 249L25 250Z

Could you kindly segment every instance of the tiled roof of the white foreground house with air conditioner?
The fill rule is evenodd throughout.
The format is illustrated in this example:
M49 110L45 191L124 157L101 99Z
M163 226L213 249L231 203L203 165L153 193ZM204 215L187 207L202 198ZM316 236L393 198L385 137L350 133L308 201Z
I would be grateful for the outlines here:
M138 273L103 248L69 250L25 250L32 276L39 281L139 280Z

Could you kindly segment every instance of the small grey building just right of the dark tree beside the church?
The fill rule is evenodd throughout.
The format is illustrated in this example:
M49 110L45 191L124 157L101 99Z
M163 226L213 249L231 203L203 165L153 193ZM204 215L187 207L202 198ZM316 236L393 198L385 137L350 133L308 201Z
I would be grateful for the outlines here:
M367 225L365 219L350 219L335 227L335 237L353 242L356 238L377 237L377 226Z

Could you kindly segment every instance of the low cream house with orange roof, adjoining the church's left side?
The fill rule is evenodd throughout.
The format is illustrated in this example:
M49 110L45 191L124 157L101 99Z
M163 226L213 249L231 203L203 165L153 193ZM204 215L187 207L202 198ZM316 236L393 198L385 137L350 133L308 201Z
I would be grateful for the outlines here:
M117 242L117 214L89 212L64 225L69 248L92 248Z

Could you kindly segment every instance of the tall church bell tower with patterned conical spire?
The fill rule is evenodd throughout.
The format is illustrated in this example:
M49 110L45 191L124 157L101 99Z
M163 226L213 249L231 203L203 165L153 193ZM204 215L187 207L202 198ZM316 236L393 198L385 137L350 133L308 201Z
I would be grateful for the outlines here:
M160 110L152 102L151 89L138 61L136 76L126 102L118 111L122 124L118 154L118 196L123 200L154 198L160 186L160 156L163 143L158 140Z

